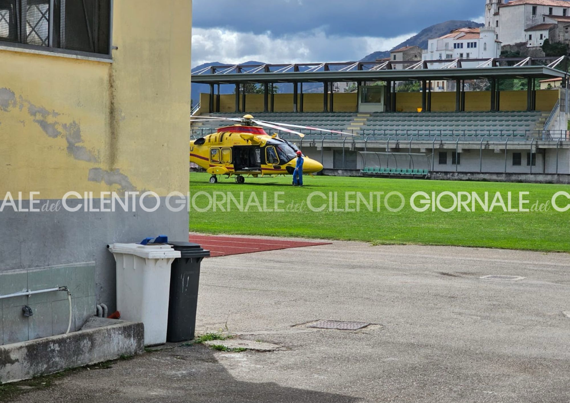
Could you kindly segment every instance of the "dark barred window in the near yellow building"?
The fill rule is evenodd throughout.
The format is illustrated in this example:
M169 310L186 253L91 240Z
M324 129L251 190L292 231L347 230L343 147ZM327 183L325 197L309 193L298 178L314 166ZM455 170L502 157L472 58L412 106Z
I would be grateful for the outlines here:
M112 0L0 0L0 42L109 55Z

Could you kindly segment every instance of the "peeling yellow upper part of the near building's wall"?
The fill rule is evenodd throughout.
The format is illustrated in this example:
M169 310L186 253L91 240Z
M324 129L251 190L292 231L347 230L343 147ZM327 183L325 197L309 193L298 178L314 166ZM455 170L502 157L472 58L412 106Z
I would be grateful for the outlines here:
M116 0L113 63L0 50L0 194L186 192L191 22Z

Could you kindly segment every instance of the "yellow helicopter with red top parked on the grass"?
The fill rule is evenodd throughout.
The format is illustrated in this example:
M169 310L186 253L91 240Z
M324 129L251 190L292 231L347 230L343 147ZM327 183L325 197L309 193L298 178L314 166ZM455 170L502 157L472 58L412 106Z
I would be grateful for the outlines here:
M286 127L349 135L327 129L255 120L251 115L237 119L203 116L191 121L238 122L190 141L190 162L211 174L211 184L218 182L218 175L226 175L228 178L235 176L235 181L243 184L244 175L257 178L293 174L299 148L287 140L279 139L276 133L268 135L263 127L294 133L300 137L304 137L304 134ZM303 158L303 173L314 174L323 170L320 162L305 156Z

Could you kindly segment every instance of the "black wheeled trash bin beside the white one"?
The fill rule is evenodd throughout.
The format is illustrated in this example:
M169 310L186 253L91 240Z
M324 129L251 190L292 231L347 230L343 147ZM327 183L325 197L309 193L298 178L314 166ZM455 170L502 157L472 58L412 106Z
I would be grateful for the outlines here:
M203 258L210 256L210 251L203 250L197 243L171 241L168 245L181 254L172 262L166 329L166 341L177 343L194 339L200 264Z

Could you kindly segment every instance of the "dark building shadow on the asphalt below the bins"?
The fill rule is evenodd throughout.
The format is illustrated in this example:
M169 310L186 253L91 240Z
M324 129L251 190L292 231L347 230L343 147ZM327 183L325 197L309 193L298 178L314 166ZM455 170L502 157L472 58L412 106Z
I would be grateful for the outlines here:
M359 398L280 386L291 382L271 378L264 368L249 366L247 356L272 353L219 353L226 365L238 374L259 382L241 381L232 376L205 346L177 347L145 353L132 360L117 361L111 368L72 373L50 388L30 390L17 402L192 402L192 403L352 403ZM222 356L223 355L223 356ZM223 357L223 358L222 358ZM273 370L275 367L273 368ZM271 371L275 373L274 371ZM341 386L339 385L339 388Z

